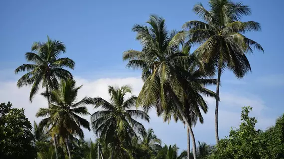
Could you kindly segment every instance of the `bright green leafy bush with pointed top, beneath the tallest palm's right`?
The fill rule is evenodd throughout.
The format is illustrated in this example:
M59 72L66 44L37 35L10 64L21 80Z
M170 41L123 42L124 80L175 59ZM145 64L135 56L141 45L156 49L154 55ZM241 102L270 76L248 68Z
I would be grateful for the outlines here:
M255 129L257 120L249 117L251 107L243 107L241 124L231 129L229 137L220 140L210 159L272 159L261 131Z

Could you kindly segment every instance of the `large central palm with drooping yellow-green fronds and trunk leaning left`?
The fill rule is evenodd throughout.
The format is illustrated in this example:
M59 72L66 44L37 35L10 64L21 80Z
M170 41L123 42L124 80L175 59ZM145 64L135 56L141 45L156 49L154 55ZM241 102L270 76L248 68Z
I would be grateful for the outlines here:
M167 107L166 96L170 95L177 103L186 125L190 127L179 101L186 93L182 85L190 85L189 81L194 79L175 63L175 59L180 56L176 51L185 32L168 32L165 20L155 15L151 15L147 23L150 27L136 24L132 28L137 32L136 39L140 40L142 51L128 50L123 54L123 60L129 60L127 67L142 70L144 85L138 95L137 106L143 105L146 112L152 107L162 112Z

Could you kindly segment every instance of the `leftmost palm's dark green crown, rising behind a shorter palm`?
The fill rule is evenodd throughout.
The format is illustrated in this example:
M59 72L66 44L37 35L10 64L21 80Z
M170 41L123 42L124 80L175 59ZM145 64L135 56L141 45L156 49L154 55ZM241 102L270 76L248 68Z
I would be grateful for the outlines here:
M32 64L23 64L19 66L15 73L25 72L17 82L17 86L32 85L29 100L32 102L32 98L37 93L39 85L42 83L42 87L48 89L57 89L57 79L69 79L73 78L72 74L63 69L74 69L75 62L69 58L59 58L61 53L65 53L65 45L58 40L51 40L47 36L47 42L34 42L31 51L25 54L26 60ZM35 51L35 53L33 52ZM48 104L50 103L47 98Z

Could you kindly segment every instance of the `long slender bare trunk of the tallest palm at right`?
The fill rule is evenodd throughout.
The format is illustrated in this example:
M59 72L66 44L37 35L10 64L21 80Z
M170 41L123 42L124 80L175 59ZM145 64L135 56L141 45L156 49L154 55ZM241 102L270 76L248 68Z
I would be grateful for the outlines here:
M220 87L220 79L221 79L221 68L218 68L218 79L217 79L217 87L216 87L216 107L215 107L215 138L216 145L219 144L219 133L218 133L218 109L219 109L219 87Z

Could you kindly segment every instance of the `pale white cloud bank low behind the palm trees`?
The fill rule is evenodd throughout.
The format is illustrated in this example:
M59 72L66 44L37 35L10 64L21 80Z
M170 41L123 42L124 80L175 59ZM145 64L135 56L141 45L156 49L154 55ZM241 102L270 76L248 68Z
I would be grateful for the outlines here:
M78 100L84 96L100 96L106 100L109 99L107 92L108 85L131 85L133 88L133 94L138 95L142 88L142 80L140 77L127 77L127 78L101 78L96 80L86 80L81 77L75 77L78 85L83 87L79 90ZM33 120L40 121L35 117L35 113L40 107L47 107L47 101L40 95L36 95L33 102L29 103L29 91L30 88L23 87L18 89L16 87L16 81L0 81L0 102L11 101L14 107L25 108L26 116L32 122ZM268 108L265 106L263 100L259 97L236 92L222 92L220 94L221 102L219 109L219 132L220 138L228 135L231 126L237 127L240 123L241 107L250 105L253 107L252 115L256 116L259 120L258 128L266 128L274 123L275 119L269 119L263 115L263 111ZM214 111L215 100L206 98L209 105L209 112L204 115L204 124L197 124L194 128L196 140L206 141L208 143L215 142L214 132ZM88 106L90 113L94 113L96 110L90 105ZM143 122L146 128L154 128L155 133L160 137L163 142L167 144L176 143L181 149L186 149L186 130L181 123L163 123L162 118L158 118L155 114L155 110L149 112L151 117L150 124ZM89 117L86 117L87 119ZM85 132L86 138L94 138L92 132Z

